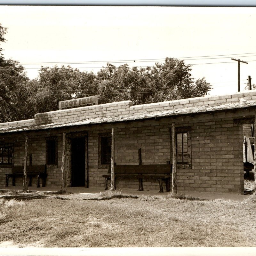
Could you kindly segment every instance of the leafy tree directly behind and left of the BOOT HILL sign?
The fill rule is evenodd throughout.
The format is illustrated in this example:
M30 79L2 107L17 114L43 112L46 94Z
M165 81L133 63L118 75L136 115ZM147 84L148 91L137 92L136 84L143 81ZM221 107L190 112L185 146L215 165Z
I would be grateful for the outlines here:
M35 113L57 110L58 102L62 100L97 94L94 79L92 72L80 72L70 66L42 67L38 79L29 83L33 92L30 100L36 106Z

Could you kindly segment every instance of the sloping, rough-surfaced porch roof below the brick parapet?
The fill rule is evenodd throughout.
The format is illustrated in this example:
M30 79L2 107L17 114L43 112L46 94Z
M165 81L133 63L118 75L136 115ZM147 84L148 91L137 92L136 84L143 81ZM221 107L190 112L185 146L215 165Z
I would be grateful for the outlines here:
M256 100L240 100L239 102L230 102L226 104L216 104L214 106L193 106L189 108L177 108L170 110L145 111L144 113L133 113L125 115L112 115L96 118L84 118L66 122L52 122L49 124L35 124L18 127L4 127L0 129L0 133L25 132L46 129L56 129L61 127L72 127L89 124L119 123L126 121L140 121L161 117L186 116L194 113L206 113L213 111L224 111L228 109L248 108L256 106Z

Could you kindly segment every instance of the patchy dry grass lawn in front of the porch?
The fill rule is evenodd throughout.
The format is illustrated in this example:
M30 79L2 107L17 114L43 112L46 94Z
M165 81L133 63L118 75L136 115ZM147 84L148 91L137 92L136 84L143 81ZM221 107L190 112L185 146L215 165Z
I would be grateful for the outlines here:
M12 193L0 194L0 246L256 246L255 193L244 202L111 191L30 193L26 200L29 193Z

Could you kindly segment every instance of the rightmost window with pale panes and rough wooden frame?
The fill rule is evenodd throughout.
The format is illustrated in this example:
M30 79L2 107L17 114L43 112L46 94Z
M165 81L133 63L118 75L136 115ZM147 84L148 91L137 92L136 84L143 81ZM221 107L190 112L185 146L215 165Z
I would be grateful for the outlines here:
M191 169L191 128L177 127L176 129L176 151L177 167L182 169ZM172 129L170 129L171 143L171 161L172 161Z

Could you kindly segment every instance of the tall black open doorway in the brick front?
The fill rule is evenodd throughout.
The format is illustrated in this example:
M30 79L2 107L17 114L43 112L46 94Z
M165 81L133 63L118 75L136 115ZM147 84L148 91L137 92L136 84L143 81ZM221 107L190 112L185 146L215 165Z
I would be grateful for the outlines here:
M85 185L85 137L71 139L71 186Z

